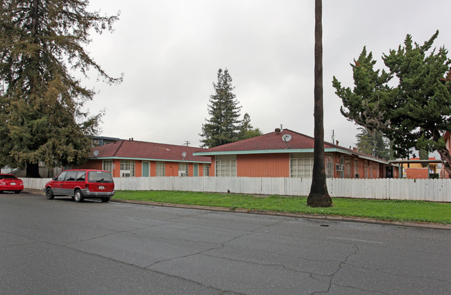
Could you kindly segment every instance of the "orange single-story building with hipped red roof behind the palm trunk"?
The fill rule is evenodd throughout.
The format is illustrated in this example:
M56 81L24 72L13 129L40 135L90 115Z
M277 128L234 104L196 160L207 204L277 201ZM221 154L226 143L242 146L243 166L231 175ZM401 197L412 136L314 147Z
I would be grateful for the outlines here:
M327 178L397 178L398 167L386 160L325 142ZM210 176L310 178L314 138L289 129L275 129L193 155L210 157Z

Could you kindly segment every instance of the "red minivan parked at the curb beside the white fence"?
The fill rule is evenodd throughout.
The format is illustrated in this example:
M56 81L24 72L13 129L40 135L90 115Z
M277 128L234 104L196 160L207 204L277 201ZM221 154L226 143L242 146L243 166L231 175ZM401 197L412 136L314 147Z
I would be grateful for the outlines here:
M114 182L110 172L94 169L71 169L62 171L44 187L46 198L71 196L76 202L83 199L110 201L114 195Z

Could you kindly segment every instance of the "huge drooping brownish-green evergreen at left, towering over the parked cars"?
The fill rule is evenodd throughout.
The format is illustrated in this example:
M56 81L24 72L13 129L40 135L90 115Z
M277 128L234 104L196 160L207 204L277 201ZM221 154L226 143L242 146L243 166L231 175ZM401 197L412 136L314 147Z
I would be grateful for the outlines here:
M39 177L38 164L77 165L90 151L101 113L81 110L95 92L72 71L90 68L108 83L119 83L83 49L91 30L112 31L117 15L87 12L83 0L1 1L0 6L0 165L26 167Z

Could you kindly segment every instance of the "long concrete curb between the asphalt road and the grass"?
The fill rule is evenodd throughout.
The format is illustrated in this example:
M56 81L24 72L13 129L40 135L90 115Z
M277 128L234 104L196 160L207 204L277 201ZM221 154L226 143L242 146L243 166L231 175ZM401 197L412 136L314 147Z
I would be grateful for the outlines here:
M33 192L33 194L44 194L44 191L39 189L24 189L24 192ZM432 228L440 230L451 230L451 224L432 224L428 222L414 222L414 221L392 221L383 219L374 219L368 217L346 217L337 215L318 215L318 214L303 214L303 213L290 213L290 212L276 212L276 211L265 211L265 210L248 210L248 209L231 209L223 207L210 207L201 205L182 205L173 203L162 203L162 202L151 202L151 201L132 201L132 200L120 200L120 199L110 199L110 202L114 203L129 203L137 205L153 205L160 207L172 207L172 208L185 208L185 209L197 209L197 210L209 210L209 211L219 211L219 212L236 212L236 213L247 213L247 214L261 214L261 215L273 215L273 216L283 216L283 217L293 217L293 218L303 218L303 219L318 219L327 221L346 221L346 222L359 222L362 224L381 224L386 226L407 226L413 228Z

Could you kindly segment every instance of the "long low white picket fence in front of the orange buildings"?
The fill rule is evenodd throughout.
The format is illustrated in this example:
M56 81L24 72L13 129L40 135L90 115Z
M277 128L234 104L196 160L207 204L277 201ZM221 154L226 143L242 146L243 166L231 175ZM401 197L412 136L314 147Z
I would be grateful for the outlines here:
M43 189L49 178L22 178L28 189ZM307 196L312 178L128 177L114 178L116 190L174 190ZM451 202L451 179L327 178L330 196Z

